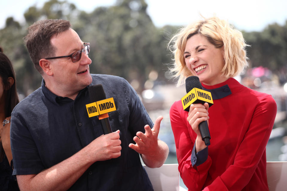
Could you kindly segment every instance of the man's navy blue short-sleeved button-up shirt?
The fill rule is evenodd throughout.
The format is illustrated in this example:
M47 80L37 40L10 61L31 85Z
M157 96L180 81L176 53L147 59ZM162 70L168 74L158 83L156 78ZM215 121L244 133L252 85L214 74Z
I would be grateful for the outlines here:
M153 123L135 90L123 78L92 74L90 85L102 84L116 111L109 113L113 132L120 130L121 155L97 161L69 190L153 190L137 152L129 148L138 131ZM88 87L75 100L42 87L22 100L11 118L13 175L38 174L71 157L103 134L97 116L88 117ZM71 167L74 168L74 167Z

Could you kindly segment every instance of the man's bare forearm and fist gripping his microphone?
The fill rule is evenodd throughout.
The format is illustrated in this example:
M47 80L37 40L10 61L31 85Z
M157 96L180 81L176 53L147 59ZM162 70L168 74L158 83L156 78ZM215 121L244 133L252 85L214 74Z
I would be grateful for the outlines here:
M119 132L101 135L70 158L39 174L17 175L20 190L68 190L94 162L120 156Z

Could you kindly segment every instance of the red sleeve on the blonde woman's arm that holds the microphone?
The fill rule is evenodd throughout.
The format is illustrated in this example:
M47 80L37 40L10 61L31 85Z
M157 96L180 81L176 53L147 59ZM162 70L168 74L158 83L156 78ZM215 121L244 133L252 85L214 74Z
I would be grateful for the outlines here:
M203 164L192 167L190 157L196 133L187 122L187 112L177 103L170 108L170 122L175 139L178 171L187 188L194 191L202 190L212 161L208 156Z

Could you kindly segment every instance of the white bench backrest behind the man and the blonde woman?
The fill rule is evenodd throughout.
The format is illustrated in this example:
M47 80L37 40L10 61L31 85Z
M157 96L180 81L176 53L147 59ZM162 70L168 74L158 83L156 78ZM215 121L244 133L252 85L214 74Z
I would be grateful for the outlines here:
M155 191L184 191L179 186L178 164L164 164L159 168L144 165ZM267 181L269 191L287 190L287 161L267 162Z

